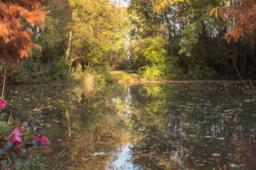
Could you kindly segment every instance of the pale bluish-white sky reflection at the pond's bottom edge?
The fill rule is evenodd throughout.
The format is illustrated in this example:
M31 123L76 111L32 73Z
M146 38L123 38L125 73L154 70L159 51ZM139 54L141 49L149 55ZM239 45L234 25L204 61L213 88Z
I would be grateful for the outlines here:
M118 153L118 159L114 161L114 169L134 169L134 165L129 161L131 159L130 155L130 145L124 145L122 150Z

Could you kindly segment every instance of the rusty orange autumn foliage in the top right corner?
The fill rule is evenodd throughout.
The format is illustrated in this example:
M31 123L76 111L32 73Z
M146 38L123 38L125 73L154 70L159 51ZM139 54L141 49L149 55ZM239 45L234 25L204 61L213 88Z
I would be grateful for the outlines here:
M230 7L216 7L210 12L210 15L215 13L217 18L220 10L220 17L229 28L225 35L228 42L232 38L237 41L240 37L246 36L246 39L254 46L256 40L256 0L237 0L233 2L233 5L232 1L229 2Z

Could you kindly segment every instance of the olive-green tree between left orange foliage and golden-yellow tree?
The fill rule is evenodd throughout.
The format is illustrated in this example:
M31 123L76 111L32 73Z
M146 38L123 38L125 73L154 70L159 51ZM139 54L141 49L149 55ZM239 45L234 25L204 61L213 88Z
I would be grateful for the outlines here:
M40 57L42 62L55 62L62 56L65 56L67 49L69 25L72 23L72 12L68 3L63 0L51 0L47 6L43 7L47 11L44 29L36 39L36 44L40 44L42 50Z

